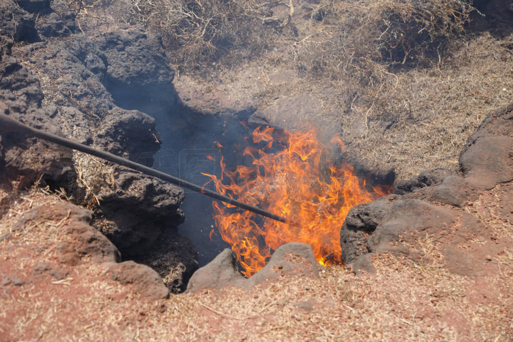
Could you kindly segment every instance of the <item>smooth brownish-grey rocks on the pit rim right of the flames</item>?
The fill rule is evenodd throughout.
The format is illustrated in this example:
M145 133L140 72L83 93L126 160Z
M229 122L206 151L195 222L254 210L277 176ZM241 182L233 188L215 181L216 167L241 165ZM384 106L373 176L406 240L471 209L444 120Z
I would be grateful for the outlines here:
M352 208L341 230L345 262L352 263L355 271L372 272L368 253L391 251L417 258L407 247L416 236L456 234L458 237L443 248L446 267L462 275L485 274L482 260L458 247L472 236L486 237L483 225L471 215L443 205L464 207L477 200L483 190L513 180L512 131L513 106L493 111L468 138L460 155L459 172L424 171L396 185L395 192L402 196L390 195ZM508 211L506 208L500 213L506 222Z

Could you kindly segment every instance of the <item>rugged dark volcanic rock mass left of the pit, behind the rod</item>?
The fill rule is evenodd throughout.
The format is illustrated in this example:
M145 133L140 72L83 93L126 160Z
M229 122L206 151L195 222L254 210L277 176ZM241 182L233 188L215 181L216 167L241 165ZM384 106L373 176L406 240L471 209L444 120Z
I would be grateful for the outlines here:
M153 153L160 148L155 120L143 112L116 106L105 85L113 79L107 76L109 62L118 63L110 70L124 68L126 77L116 72L110 76L115 75L117 81L125 82L123 86L139 87L135 91L141 94L156 93L160 87L167 92L166 101L176 103L176 96L172 96L173 71L168 67L159 42L140 31L136 34L130 30L111 32L107 34L109 42L113 42L112 37L119 38L123 53L127 53L120 58L121 52L110 50L112 47L103 37L98 38L105 43L100 47L83 34L73 34L74 14L62 0L21 1L20 6L38 16L37 24L34 24L34 16L16 3L5 0L3 4L6 6L0 8L1 33L12 35L16 41L35 42L40 39L36 30L40 30L42 39L53 38L51 43L43 40L17 46L15 57L22 62L18 63L11 54L12 43L0 37L0 109L32 127L151 166ZM13 14L16 27L12 25ZM31 37L27 33L29 28L33 30ZM58 38L64 35L70 37ZM103 48L108 50L109 58ZM139 69L134 67L136 65ZM152 68L156 71L148 73ZM136 69L137 72L132 73ZM141 100L152 104L151 99ZM93 220L95 227L118 244L125 256L142 258L145 253L155 252L155 258L161 257L157 263L159 271L167 272L173 286L184 288L197 266L193 246L176 234L176 226L184 219L178 209L183 200L180 188L38 139L1 134L0 168L3 172L0 177L4 179L0 182L6 177L19 177L18 187L25 188L43 174L41 184L47 183L56 189L64 187L76 203L96 206L99 202ZM180 242L180 252L175 248L174 254L162 258L160 250L153 249L161 233L175 237L167 241L169 244ZM65 247L59 250L68 255L69 246ZM151 259L149 254L147 256ZM69 261L77 261L72 259L70 257ZM167 270L164 265L169 266Z

